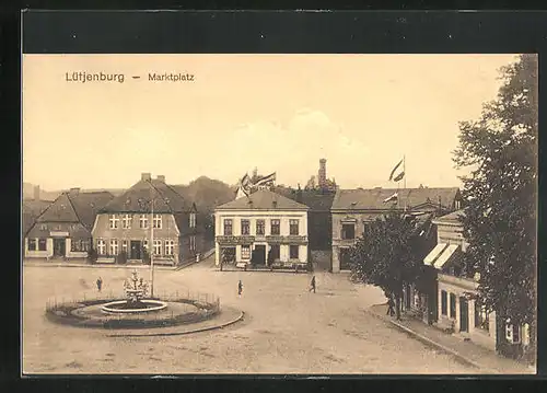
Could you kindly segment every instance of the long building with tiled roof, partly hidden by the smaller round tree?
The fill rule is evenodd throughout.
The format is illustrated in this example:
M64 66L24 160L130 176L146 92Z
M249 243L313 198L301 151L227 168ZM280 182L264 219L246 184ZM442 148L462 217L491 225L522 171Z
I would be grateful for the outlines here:
M386 199L397 194L397 203ZM364 233L368 222L396 209L412 213L445 212L461 207L462 196L457 187L451 188L372 188L338 189L333 200L333 263L331 271L350 269L349 248Z

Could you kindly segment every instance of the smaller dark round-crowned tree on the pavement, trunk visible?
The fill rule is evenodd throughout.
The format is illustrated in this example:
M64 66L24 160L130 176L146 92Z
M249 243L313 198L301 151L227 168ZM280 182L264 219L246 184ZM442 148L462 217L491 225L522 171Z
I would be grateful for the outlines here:
M421 271L421 258L415 255L421 232L417 224L410 216L391 211L368 224L363 236L350 248L353 279L394 296L397 320L403 287L416 282Z

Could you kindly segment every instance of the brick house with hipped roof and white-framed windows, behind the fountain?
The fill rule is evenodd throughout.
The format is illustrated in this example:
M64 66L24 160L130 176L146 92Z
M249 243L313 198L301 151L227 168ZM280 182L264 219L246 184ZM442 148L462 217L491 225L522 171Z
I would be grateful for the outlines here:
M205 251L203 223L197 217L196 205L166 184L165 176L142 173L138 183L98 212L94 247L102 259L123 255L138 263L147 261L152 250L154 263L176 265Z

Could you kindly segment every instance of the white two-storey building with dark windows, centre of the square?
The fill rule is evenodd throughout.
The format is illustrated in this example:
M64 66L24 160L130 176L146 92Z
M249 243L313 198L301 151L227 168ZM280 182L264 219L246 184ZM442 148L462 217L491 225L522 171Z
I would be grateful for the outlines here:
M216 264L307 263L309 207L268 189L217 207Z

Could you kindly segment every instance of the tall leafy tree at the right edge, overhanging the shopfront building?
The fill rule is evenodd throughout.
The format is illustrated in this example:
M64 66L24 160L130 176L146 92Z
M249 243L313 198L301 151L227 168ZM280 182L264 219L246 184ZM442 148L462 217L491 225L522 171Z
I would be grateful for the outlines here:
M478 297L498 320L536 321L537 58L520 56L501 70L498 97L478 120L463 122L454 162L467 208L465 263L479 274Z

